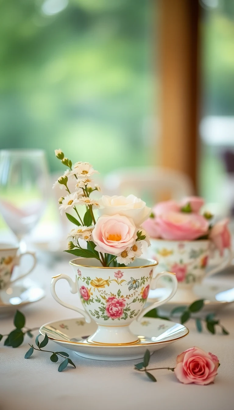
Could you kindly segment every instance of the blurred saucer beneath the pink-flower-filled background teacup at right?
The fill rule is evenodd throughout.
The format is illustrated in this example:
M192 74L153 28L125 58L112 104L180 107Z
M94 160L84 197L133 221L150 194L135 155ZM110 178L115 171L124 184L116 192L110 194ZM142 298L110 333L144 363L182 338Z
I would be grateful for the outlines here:
M195 300L205 299L202 311L217 311L220 307L234 302L234 288L230 289L227 286L225 287L214 284L208 285L207 283L204 283L202 285L195 285L193 287L193 293L195 294L194 298L188 300L188 298L186 298L186 292L183 294L183 292L179 289L175 296L173 296L170 301L165 303L160 310L169 312L175 307L182 305L189 306ZM170 289L167 287L160 287L155 290L150 290L147 302L154 303L162 298L165 298L169 294Z

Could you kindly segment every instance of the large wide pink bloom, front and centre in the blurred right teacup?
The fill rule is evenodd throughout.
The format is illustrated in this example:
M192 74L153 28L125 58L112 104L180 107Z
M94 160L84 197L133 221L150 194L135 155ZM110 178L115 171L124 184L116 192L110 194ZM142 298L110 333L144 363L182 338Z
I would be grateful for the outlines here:
M198 214L165 212L157 216L157 228L162 239L192 241L207 234L209 223Z

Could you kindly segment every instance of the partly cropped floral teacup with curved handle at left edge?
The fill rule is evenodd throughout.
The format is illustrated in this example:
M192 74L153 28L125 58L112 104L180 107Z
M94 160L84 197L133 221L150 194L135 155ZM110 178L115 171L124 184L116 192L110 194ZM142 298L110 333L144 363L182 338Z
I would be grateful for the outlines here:
M4 289L7 285L16 282L16 280L27 276L36 266L36 257L32 252L21 253L16 255L18 246L11 244L0 244L0 289ZM16 265L20 264L20 259L24 255L32 255L33 265L32 267L22 275L17 276L16 279L11 280L11 275Z

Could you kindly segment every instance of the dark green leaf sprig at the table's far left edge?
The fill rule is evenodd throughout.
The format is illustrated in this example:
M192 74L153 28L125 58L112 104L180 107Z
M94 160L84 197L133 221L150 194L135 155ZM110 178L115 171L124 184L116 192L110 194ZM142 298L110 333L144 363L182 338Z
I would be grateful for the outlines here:
M27 328L25 326L25 315L19 312L19 310L16 310L14 316L14 325L16 328L12 330L8 335L0 334L0 341L2 340L2 337L7 336L4 342L4 346L11 346L14 348L18 347L23 343L25 335L33 337L31 332L38 329L38 327L32 329Z

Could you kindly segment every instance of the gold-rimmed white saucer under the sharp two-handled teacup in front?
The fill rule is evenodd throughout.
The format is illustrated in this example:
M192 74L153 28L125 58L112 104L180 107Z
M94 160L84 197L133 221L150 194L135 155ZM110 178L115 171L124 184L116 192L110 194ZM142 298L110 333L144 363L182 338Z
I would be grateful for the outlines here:
M134 321L130 325L132 332L140 339L139 344L101 346L86 340L97 327L94 321L86 323L83 318L77 318L46 323L39 331L42 335L47 333L49 339L59 346L70 349L84 358L95 360L141 359L146 349L152 354L189 333L189 330L180 323L146 317L140 323Z

